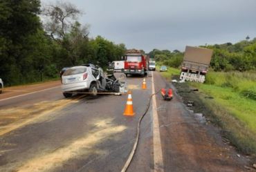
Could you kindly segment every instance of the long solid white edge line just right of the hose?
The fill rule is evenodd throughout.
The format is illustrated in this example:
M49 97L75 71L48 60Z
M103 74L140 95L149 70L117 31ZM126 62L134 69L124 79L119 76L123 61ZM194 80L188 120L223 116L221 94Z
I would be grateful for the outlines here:
M155 93L154 73L152 75L152 94ZM154 152L154 172L163 171L163 153L161 147L161 137L158 124L158 113L156 111L156 95L152 97L153 111L153 152Z

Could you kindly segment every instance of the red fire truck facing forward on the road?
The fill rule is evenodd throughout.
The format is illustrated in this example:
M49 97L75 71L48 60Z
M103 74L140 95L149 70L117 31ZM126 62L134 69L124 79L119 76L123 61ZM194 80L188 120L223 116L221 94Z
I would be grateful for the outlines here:
M149 57L142 50L131 49L125 54L125 69L123 72L128 75L147 75Z

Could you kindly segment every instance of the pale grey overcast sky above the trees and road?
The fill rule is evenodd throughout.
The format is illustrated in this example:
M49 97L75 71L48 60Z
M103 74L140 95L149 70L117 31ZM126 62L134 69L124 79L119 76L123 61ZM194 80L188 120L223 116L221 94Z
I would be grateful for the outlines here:
M79 21L90 25L90 37L146 52L256 37L256 0L66 1L84 12Z

